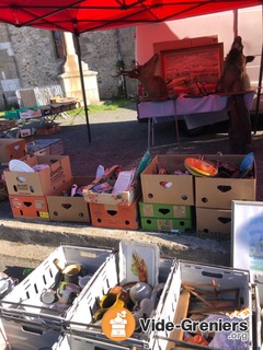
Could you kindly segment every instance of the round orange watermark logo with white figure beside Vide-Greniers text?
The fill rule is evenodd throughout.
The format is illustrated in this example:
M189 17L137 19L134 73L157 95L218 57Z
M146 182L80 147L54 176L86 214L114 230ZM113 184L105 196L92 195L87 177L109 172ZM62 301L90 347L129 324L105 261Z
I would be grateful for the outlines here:
M134 315L124 307L110 308L102 318L102 330L104 335L114 341L128 339L135 331Z

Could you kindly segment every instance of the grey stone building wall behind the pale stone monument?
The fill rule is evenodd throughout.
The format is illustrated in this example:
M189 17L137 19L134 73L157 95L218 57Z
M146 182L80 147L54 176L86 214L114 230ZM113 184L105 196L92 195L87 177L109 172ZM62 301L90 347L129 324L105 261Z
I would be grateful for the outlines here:
M129 66L135 58L134 27L89 32L80 35L81 59L98 72L101 100L122 95L116 65ZM11 105L16 89L57 84L64 58L56 54L53 33L37 28L0 25L0 108L4 97ZM136 93L136 82L126 81L128 95Z

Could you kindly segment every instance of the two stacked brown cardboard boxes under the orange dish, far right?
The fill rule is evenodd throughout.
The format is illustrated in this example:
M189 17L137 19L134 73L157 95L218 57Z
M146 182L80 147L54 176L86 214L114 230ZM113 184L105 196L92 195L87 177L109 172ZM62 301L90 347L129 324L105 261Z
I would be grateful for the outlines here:
M205 155L205 161L218 160L240 168L243 155ZM255 200L256 170L251 177L195 177L196 231L199 236L229 238L232 200ZM218 236L216 236L218 237Z

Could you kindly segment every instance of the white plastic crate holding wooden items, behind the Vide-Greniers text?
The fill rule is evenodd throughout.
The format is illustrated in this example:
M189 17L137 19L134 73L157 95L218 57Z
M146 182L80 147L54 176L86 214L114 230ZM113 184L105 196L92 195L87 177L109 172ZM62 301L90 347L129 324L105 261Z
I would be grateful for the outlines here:
M251 296L251 284L250 284L250 273L247 270L232 269L227 267L215 267L206 265L197 265L194 262L178 260L175 262L175 271L173 278L165 295L165 301L163 302L162 311L159 315L159 319L164 319L165 322L174 322L175 311L179 307L179 298L181 291L181 283L207 283L207 291L211 290L211 280L215 281L217 289L239 289L239 306L249 307L252 312L252 296ZM203 290L206 288L203 287ZM225 294L225 298L230 296ZM248 341L245 342L245 349L252 349L252 313L248 318L249 331ZM171 332L158 331L155 337L151 338L150 342L151 350L162 350L168 347L168 338ZM191 345L190 342L184 342L187 348L196 349L196 345ZM182 346L183 347L183 346ZM172 347L171 347L172 349ZM207 347L198 346L198 349L207 349ZM213 348L214 349L214 348ZM218 349L221 350L221 349ZM235 350L232 348L231 350Z

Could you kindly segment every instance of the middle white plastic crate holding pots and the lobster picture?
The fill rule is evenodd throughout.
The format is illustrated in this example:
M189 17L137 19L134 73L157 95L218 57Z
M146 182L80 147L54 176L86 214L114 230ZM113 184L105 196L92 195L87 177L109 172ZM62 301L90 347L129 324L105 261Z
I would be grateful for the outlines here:
M172 280L173 275L173 260L172 259L160 259L159 260L159 273L158 273L158 283L164 283L164 289L160 296L159 303L156 308L156 314L159 315L159 308L162 310L162 302L164 294L169 289L169 284ZM106 338L100 327L94 327L92 324L93 315L98 310L98 301L107 293L108 289L116 285L119 280L118 271L114 264L106 264L101 270L100 275L96 277L93 285L90 290L87 290L85 294L81 299L78 307L69 319L69 328L71 336L67 336L67 339L61 340L61 343L73 342L73 347L69 349L73 350L111 350L111 349L130 349L132 346L135 346L136 349L150 349L149 341L152 336L150 331L148 332L137 332L135 331L133 336L122 343L114 342ZM156 318L152 315L152 318ZM73 336L78 336L77 338ZM94 341L100 342L101 345L96 348L94 347ZM112 343L112 345L111 345ZM78 345L78 346L77 346ZM57 345L54 349L64 350L67 349Z

